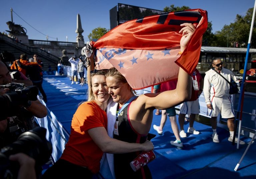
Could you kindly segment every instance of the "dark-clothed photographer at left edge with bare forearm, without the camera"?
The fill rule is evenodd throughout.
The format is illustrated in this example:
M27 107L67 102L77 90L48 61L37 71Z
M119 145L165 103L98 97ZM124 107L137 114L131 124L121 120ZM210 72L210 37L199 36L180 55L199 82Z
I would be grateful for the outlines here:
M11 82L12 78L9 70L6 65L0 61L0 85L9 84ZM10 89L8 88L0 89L0 95L8 94L7 92L9 91ZM18 103L18 106L16 103ZM4 116L6 116L4 113L7 113L7 111L1 109L3 112L1 112L0 116L0 147L15 141L22 132L37 127L38 125L34 121L34 116L43 118L47 115L46 107L37 99L35 101L16 101L16 103L10 102L14 107L7 109L12 115L7 115L8 117L6 119L4 118ZM3 105L2 107L6 107L5 104L1 105Z

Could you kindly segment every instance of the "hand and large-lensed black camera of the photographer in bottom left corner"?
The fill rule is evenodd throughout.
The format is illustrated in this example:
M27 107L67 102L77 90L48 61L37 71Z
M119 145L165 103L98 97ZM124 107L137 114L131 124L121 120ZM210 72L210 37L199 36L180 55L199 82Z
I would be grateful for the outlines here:
M40 179L42 165L49 161L52 145L47 130L36 127L19 135L13 143L0 150L1 179Z

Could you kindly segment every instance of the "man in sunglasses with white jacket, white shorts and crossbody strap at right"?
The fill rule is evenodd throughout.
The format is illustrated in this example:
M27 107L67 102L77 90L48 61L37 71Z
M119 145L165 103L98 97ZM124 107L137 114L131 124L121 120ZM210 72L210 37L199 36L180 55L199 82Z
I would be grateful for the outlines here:
M216 70L216 71L215 71ZM211 126L213 130L212 140L213 142L219 143L219 137L216 132L217 129L217 116L221 113L222 118L227 119L227 125L230 136L228 141L232 142L234 134L234 119L235 113L233 109L232 99L229 94L229 84L221 77L218 73L224 76L228 81L233 79L236 83L238 80L234 74L223 68L223 62L220 58L212 59L212 69L205 72L204 77L204 98L208 108L208 115L211 116ZM235 142L237 143L237 137ZM245 144L244 141L239 140L239 144Z

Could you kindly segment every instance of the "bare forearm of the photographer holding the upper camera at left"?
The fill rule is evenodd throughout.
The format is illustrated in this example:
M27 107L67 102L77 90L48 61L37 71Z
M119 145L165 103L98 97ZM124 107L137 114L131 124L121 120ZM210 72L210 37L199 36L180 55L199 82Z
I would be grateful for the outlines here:
M47 109L39 100L31 101L30 106L24 107L37 118L44 118L47 116Z

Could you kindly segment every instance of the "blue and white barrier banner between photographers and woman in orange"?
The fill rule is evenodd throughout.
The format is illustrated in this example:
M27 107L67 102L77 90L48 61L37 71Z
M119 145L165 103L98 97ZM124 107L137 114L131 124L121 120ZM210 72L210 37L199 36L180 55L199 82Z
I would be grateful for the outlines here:
M44 101L39 101L46 106ZM46 106L47 108L47 106ZM46 139L52 144L52 159L56 162L62 155L69 134L59 123L56 116L47 108L48 114L44 118L36 118L40 127L46 128Z

